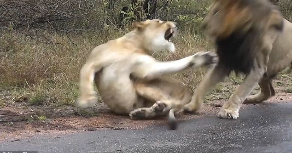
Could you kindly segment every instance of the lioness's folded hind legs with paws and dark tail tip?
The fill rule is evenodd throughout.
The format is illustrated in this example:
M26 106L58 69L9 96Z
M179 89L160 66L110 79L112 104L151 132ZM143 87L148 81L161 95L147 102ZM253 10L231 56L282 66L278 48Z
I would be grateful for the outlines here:
M137 93L145 98L147 108L138 108L130 113L131 118L151 118L168 114L168 125L177 128L174 113L182 110L190 102L191 92L176 79L157 79L135 85ZM151 107L150 107L151 106Z

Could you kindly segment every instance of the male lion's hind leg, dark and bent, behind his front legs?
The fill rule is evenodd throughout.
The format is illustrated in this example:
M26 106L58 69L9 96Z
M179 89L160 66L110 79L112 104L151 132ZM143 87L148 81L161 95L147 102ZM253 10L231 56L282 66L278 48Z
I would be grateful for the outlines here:
M275 90L272 85L272 78L263 77L258 83L260 86L260 92L255 95L248 96L244 101L244 104L248 103L261 103L272 96L275 96Z

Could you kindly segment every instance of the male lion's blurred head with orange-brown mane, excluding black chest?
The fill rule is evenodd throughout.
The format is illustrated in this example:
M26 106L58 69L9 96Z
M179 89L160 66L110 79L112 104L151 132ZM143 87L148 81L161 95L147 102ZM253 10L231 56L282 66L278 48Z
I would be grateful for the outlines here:
M213 0L201 26L215 39L244 34L251 28L263 30L275 8L270 0Z

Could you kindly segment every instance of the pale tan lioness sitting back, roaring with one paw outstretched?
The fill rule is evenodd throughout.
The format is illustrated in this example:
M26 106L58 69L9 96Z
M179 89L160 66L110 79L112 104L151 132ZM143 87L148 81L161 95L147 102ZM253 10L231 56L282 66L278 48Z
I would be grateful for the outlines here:
M175 61L157 61L150 56L153 51L175 51L170 40L177 31L175 22L155 19L136 21L132 26L133 31L92 50L80 70L81 95L77 105L87 108L98 101L95 82L107 106L132 119L149 119L182 109L190 102L191 92L183 82L162 75L215 64L217 54L198 52ZM173 114L169 117L175 119Z

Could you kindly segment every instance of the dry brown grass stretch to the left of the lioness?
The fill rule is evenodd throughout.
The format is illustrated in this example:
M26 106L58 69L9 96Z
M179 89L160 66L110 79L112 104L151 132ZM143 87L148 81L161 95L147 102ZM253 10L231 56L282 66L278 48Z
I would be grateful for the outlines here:
M39 44L16 37L20 41L0 55L4 57L1 60L1 89L6 89L8 96L25 95L22 97L27 97L32 104L73 103L78 96L75 78L93 44L84 42L74 46L61 36L51 39L62 44Z

